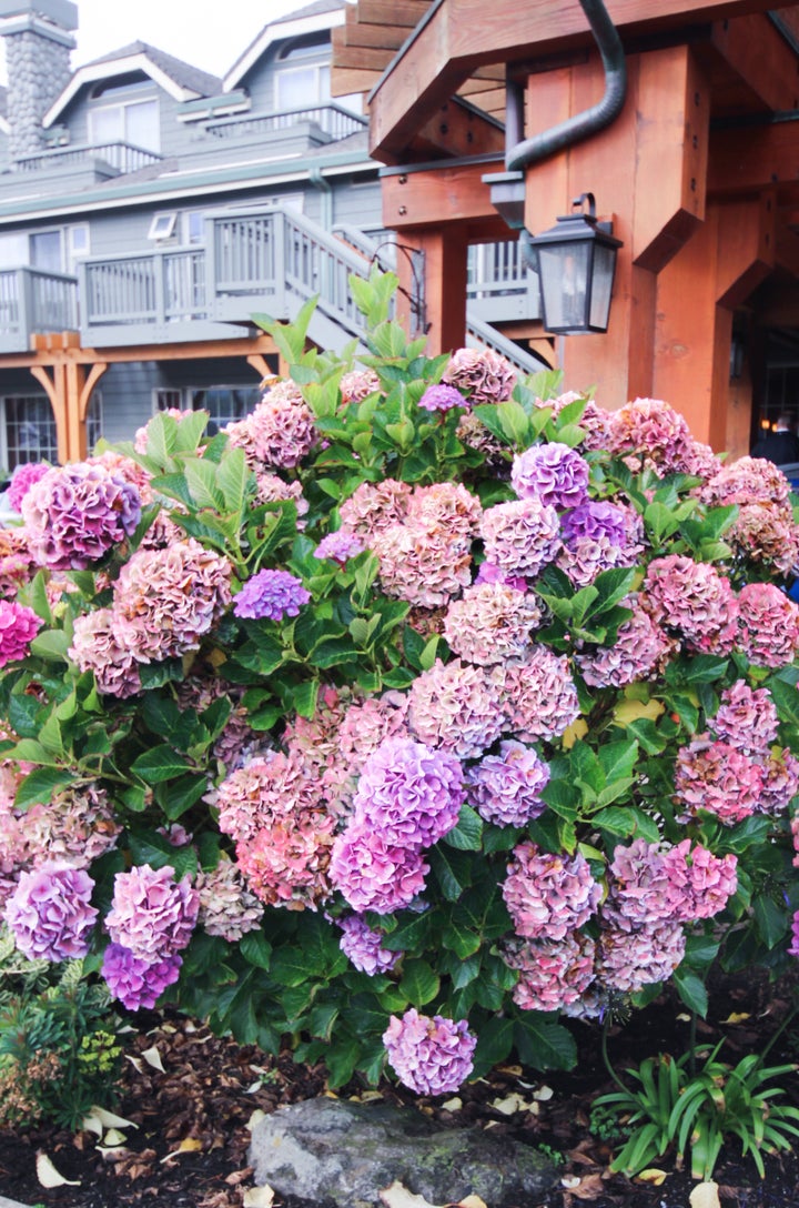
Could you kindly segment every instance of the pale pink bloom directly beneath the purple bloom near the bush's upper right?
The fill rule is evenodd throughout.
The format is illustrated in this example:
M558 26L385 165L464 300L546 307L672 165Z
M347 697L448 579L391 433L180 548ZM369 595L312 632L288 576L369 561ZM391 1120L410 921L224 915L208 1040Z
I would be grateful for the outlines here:
M549 504L519 499L483 512L485 557L508 575L535 579L560 552L560 519Z

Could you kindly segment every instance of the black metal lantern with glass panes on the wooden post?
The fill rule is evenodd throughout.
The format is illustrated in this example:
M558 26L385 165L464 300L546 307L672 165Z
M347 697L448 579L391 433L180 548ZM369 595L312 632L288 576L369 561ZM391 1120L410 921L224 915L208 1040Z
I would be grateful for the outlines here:
M593 193L583 193L572 205L579 211L565 214L549 231L526 240L541 281L544 329L570 336L607 331L622 246L611 233L612 223L596 221Z

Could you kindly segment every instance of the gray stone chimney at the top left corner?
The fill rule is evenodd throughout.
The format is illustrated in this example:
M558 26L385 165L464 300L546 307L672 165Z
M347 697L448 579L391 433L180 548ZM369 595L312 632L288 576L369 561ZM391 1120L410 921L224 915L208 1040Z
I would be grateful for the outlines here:
M77 5L71 0L0 0L12 165L45 146L42 118L72 75L74 29Z

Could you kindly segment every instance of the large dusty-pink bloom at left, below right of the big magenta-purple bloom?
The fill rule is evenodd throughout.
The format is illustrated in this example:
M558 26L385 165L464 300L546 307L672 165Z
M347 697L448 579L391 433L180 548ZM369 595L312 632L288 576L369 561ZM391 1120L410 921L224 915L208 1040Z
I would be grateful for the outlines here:
M136 662L198 650L231 603L227 558L188 538L167 550L138 550L113 591L113 637Z

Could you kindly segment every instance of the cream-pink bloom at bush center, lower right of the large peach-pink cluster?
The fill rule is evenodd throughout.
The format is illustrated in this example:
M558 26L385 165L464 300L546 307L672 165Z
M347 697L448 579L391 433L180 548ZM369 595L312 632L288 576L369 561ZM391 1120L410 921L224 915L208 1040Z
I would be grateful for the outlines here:
M450 603L444 637L465 662L488 667L523 657L542 615L532 593L505 582L473 583Z

